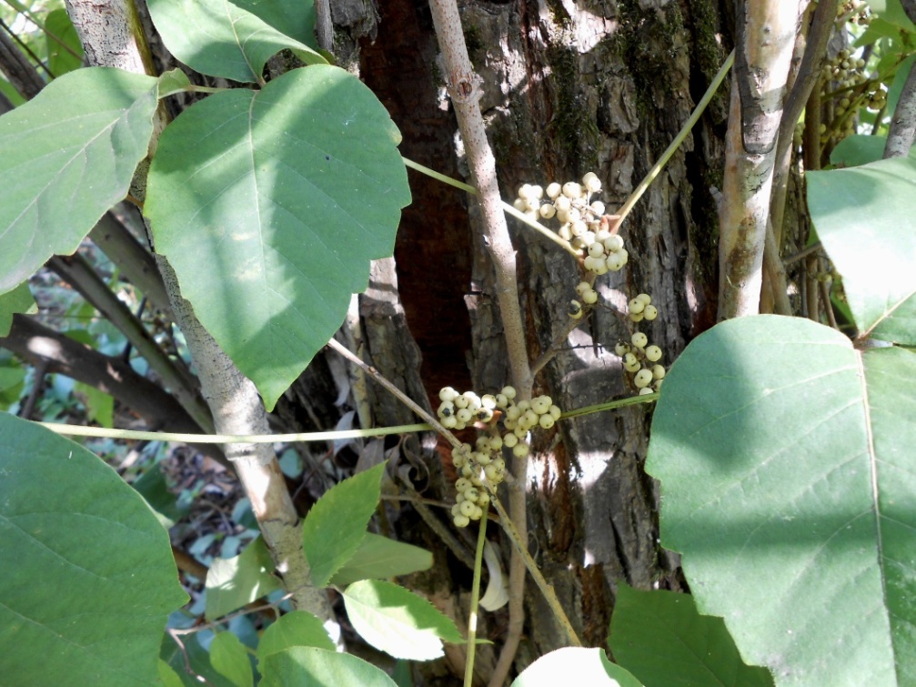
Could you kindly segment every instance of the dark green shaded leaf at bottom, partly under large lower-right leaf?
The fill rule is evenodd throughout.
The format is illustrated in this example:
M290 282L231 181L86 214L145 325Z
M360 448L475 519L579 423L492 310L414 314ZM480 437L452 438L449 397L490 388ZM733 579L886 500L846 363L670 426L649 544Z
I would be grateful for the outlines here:
M741 660L722 618L701 616L689 594L620 584L609 644L616 661L648 687L773 684L765 668Z

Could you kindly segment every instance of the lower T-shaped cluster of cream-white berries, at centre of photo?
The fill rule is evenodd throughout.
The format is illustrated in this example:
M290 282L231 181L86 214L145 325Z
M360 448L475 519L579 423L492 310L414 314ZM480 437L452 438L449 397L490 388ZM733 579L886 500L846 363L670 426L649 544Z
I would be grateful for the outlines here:
M439 392L439 398L442 404L438 414L445 427L459 430L470 422L490 422L496 415L495 410L499 409L506 430L500 434L494 429L491 434L477 437L474 447L464 443L452 451L453 464L460 474L455 482L458 493L452 507L452 518L457 527L466 527L471 520L482 518L490 503L490 495L481 474L485 475L490 486L496 487L506 477L503 448L511 449L518 458L524 458L529 453L529 443L525 441L529 431L536 427L551 429L560 419L562 410L553 404L549 396L516 403L514 387L503 387L498 394L485 394L482 397L473 391L459 394L453 387L444 387ZM465 410L470 415L462 412ZM459 413L461 420L458 419Z

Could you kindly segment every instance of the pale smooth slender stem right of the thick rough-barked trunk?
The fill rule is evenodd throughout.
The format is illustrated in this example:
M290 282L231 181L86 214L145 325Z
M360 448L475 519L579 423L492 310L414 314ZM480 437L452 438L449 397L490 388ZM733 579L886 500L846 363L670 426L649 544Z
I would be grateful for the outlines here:
M756 314L797 0L736 6L736 54L719 213L719 319Z

